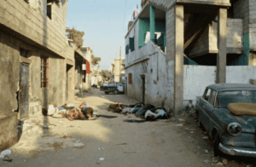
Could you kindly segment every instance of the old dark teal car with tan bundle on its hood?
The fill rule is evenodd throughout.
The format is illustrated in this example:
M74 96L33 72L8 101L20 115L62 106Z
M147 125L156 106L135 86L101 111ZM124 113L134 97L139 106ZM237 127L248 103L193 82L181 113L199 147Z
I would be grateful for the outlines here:
M216 156L256 157L256 85L209 85L195 109L199 124L214 141Z

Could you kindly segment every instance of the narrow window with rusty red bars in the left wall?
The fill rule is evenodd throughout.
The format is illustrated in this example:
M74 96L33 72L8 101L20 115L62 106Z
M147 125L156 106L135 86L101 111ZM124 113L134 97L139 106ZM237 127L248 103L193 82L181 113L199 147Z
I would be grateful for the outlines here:
M49 58L41 57L41 88L49 88Z

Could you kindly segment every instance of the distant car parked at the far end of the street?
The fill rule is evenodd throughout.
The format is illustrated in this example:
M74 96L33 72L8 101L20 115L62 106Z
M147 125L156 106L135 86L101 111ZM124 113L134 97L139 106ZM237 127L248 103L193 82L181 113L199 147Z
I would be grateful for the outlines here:
M113 92L115 95L125 93L125 83L109 83L108 85L102 85L100 90L104 91L105 94L109 92Z

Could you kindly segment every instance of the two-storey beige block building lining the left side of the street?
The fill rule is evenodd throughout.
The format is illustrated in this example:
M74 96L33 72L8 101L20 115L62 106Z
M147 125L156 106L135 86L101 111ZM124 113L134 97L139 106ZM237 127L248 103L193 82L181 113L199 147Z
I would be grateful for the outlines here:
M75 57L67 0L0 1L0 150L17 141L17 118L74 100Z

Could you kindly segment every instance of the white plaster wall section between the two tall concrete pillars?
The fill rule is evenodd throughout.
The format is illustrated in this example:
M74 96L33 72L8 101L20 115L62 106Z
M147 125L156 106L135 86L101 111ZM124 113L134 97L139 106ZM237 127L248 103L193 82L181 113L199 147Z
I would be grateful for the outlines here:
M195 105L196 96L202 96L209 84L215 83L216 66L183 66L183 104L193 100Z

